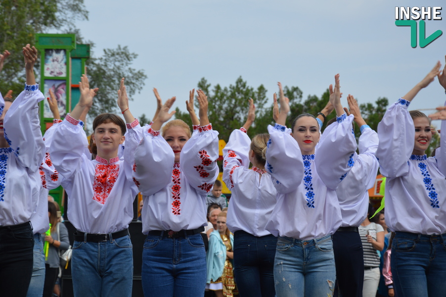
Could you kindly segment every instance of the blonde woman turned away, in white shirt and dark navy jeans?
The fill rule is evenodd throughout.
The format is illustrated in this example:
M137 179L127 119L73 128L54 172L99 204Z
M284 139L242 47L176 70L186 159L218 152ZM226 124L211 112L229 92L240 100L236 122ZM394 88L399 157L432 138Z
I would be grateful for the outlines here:
M265 170L269 135L258 134L250 140L246 134L255 116L250 99L246 123L231 133L223 148L223 180L232 193L227 227L234 233L234 272L240 295L273 297L277 232L271 234L265 226L277 191Z

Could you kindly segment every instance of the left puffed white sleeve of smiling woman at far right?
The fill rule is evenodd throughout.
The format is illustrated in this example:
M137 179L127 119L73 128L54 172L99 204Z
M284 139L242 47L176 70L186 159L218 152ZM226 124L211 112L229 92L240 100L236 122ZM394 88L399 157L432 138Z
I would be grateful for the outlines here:
M399 99L387 109L378 124L376 157L381 174L387 177L404 176L409 172L407 161L412 154L415 139L413 120L407 111L409 103Z

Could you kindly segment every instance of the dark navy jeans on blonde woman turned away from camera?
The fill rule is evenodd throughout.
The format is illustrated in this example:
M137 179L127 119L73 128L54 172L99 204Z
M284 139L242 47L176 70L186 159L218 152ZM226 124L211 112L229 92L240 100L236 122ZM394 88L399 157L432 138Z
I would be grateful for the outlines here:
M274 255L277 237L234 233L234 277L243 297L274 297Z

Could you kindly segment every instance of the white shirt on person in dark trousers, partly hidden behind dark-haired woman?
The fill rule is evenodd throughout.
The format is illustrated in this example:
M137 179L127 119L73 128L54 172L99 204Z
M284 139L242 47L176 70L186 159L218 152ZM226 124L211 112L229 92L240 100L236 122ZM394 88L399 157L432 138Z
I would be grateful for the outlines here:
M368 189L373 188L378 173L378 134L369 126L361 127L358 141L359 155L355 152L352 170L336 190L341 208L341 227L359 226L367 216Z

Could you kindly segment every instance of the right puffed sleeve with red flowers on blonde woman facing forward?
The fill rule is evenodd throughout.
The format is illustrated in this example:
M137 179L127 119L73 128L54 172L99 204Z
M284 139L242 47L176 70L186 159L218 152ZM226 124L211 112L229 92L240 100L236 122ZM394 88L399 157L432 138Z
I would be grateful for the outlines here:
M184 144L179 166L195 190L208 193L219 175L219 133L212 125L202 126Z

